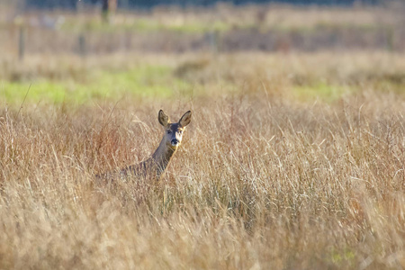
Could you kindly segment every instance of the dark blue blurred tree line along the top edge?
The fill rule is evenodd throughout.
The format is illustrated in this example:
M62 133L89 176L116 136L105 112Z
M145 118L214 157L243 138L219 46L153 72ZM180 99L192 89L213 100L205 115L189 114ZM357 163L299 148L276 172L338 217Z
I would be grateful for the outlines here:
M4 0L0 0L0 3ZM21 8L76 9L78 4L98 4L104 11L118 8L148 9L157 5L210 6L217 3L227 4L320 4L320 5L352 5L352 4L382 4L384 0L16 0Z

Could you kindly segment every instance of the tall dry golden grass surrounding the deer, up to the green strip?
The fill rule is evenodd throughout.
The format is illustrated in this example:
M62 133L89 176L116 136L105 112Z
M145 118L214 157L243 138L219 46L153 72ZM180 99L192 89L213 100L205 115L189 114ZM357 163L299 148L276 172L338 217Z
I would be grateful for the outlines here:
M4 106L0 268L403 268L403 95L247 90ZM157 147L161 107L193 110L163 180L95 183Z

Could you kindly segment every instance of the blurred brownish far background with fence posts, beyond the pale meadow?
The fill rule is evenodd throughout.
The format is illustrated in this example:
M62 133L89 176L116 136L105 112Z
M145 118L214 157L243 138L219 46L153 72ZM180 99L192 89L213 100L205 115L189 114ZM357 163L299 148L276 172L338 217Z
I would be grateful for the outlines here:
M0 46L14 54L19 43L26 53L82 54L405 48L404 4L394 1L9 2L0 2Z

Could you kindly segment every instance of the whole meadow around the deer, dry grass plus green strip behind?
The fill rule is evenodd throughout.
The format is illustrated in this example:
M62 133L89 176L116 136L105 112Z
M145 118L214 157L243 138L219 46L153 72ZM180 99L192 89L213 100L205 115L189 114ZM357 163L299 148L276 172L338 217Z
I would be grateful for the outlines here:
M404 57L2 56L0 269L405 267ZM159 109L193 111L162 180L97 182L157 148Z

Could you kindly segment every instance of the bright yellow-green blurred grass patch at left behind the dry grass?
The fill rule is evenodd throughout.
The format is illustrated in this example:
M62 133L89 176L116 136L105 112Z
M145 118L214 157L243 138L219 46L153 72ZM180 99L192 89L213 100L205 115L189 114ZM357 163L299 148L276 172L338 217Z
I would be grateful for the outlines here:
M124 71L89 71L85 82L37 79L32 82L2 82L0 100L8 104L88 103L122 98L169 98L191 94L192 87L173 76L171 67L139 66ZM30 87L31 85L31 87Z

